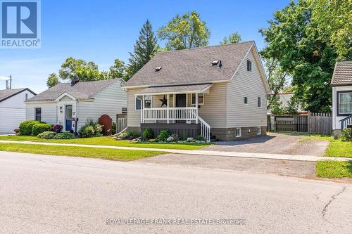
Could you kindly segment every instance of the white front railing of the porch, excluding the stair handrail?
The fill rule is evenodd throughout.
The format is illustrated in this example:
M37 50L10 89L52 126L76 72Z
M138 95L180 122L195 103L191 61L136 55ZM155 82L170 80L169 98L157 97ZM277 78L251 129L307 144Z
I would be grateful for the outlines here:
M145 108L142 120L197 120L196 108Z

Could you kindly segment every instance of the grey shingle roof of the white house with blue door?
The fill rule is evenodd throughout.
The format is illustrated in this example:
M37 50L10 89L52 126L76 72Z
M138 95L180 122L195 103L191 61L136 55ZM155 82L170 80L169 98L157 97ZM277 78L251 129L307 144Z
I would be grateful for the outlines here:
M117 80L118 79L106 79L94 82L78 82L74 86L71 86L70 83L59 83L39 93L37 96L28 99L27 102L56 100L56 98L63 93L69 93L79 100L86 100L92 98L92 96L99 93L99 91L106 89Z

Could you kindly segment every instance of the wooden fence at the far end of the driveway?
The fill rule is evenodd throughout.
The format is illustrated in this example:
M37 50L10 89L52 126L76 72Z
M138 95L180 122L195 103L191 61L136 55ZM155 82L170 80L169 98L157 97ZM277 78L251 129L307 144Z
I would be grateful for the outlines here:
M271 122L268 118L268 124ZM312 113L308 115L275 116L275 131L303 131L315 134L332 134L332 115L328 113Z

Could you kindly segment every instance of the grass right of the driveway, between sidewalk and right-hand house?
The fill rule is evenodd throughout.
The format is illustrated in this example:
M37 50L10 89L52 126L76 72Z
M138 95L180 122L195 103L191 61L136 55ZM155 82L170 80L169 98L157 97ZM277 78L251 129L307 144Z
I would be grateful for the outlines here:
M305 136L301 141L310 141L310 140L329 141L329 146L325 150L325 156L352 157L351 141L334 140L332 136L326 136L326 135Z

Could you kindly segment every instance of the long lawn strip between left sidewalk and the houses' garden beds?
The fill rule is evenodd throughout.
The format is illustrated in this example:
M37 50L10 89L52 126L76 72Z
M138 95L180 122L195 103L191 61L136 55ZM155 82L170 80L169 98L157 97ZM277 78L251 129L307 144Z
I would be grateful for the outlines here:
M39 139L36 136L0 136L2 141L35 141L35 142L53 142L53 143L74 143L82 145L113 145L124 147L138 148L157 148L157 149L175 149L175 150L198 150L210 144L190 144L190 143L137 143L134 141L116 141L111 137L101 136L92 138L75 138L70 140L46 140Z

